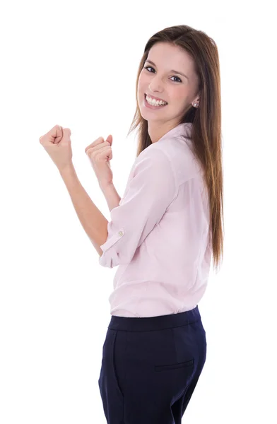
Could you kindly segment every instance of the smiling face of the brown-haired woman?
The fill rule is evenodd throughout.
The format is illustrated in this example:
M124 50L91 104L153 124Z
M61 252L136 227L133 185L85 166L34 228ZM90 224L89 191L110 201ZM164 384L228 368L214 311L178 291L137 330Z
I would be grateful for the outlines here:
M151 47L139 76L137 95L142 117L148 125L175 126L184 110L199 100L195 94L197 83L194 61L187 52L167 42L156 43ZM164 100L167 105L147 107L146 94Z

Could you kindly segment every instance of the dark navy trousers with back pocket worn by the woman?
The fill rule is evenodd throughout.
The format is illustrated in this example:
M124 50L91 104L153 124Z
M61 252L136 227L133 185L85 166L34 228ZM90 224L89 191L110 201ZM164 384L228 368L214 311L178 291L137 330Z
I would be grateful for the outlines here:
M181 424L206 361L198 305L158 317L111 316L98 384L108 424Z

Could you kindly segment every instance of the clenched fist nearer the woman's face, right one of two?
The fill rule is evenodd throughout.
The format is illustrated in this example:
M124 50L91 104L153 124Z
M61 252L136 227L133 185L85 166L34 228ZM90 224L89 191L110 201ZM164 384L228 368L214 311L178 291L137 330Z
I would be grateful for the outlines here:
M99 137L85 151L93 166L100 188L112 183L112 170L110 160L112 159L112 135L107 136L105 141L103 137Z

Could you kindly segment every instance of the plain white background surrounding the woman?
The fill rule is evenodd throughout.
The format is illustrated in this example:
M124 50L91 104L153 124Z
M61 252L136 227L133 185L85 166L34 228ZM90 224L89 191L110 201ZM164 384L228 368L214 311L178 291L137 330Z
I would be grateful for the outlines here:
M273 1L6 1L1 38L1 424L105 424L98 378L115 269L98 264L39 137L71 129L73 164L110 220L85 148L126 137L151 35L203 30L220 54L225 246L199 304L207 358L184 423L276 423L276 37ZM212 119L213 117L211 117ZM154 423L153 423L154 424ZM156 423L155 423L156 424Z

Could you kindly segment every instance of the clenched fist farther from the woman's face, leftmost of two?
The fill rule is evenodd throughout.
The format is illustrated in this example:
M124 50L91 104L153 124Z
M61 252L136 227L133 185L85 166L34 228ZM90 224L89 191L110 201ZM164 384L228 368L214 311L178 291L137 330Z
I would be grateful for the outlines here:
M40 144L45 148L60 172L64 167L72 164L70 136L69 128L55 125L47 134L40 137Z

